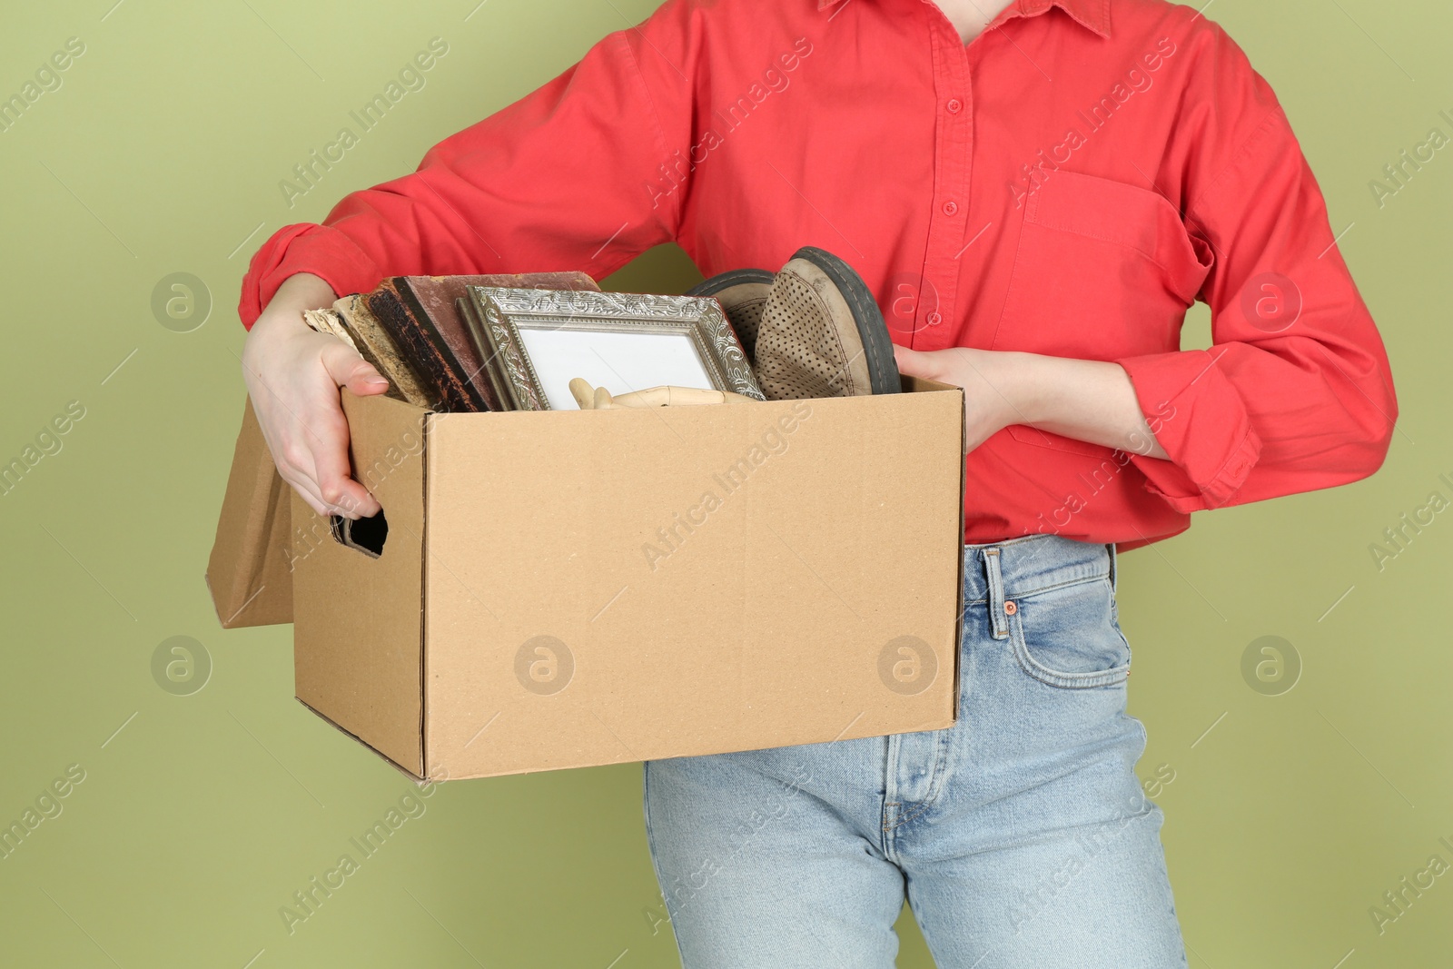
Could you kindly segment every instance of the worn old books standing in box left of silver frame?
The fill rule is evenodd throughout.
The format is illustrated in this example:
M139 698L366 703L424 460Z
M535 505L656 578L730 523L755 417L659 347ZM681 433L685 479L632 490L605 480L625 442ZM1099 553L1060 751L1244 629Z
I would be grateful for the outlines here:
M513 410L497 353L471 311L471 286L600 292L580 272L491 276L394 276L373 292L304 314L308 325L359 352L388 395L434 411Z

